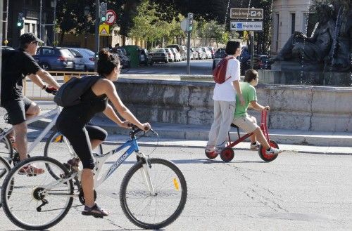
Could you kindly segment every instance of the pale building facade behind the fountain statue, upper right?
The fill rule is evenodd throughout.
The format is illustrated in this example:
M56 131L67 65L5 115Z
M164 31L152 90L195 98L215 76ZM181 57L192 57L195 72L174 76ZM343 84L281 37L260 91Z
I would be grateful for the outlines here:
M274 0L272 4L271 53L277 54L294 31L310 37L309 8L312 0Z

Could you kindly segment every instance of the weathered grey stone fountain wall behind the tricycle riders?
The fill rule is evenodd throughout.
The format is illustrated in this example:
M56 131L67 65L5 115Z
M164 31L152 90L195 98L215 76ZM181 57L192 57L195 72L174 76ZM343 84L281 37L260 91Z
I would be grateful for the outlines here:
M122 102L142 121L210 125L210 82L119 79ZM270 105L269 128L352 132L352 88L259 85L258 103ZM250 111L260 121L260 112Z

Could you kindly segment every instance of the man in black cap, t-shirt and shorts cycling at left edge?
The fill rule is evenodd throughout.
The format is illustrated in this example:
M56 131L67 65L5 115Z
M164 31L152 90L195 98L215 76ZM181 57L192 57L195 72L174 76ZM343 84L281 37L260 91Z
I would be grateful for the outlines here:
M10 140L15 140L15 149L20 154L20 160L27 158L27 124L25 120L40 112L39 106L23 96L23 79L28 76L34 84L47 92L60 88L51 75L42 70L31 55L37 53L38 39L32 33L20 36L20 47L15 51L3 51L1 63L1 107L8 113L8 122L13 125L14 134ZM42 79L51 87L47 87ZM20 173L43 173L44 169L26 166Z

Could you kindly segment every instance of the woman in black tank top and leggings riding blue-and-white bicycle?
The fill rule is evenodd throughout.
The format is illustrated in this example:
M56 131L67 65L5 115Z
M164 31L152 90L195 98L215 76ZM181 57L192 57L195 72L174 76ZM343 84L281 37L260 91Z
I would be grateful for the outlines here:
M105 140L107 133L98 126L87 125L94 114L103 112L106 117L114 121L118 126L127 128L128 124L135 124L142 130L149 130L149 123L142 124L123 105L116 92L113 81L118 79L120 73L120 61L108 51L99 52L98 73L101 79L93 84L92 88L81 96L81 103L71 107L64 107L56 121L58 131L68 138L78 157L83 164L82 189L84 193L85 206L83 215L108 216L108 213L97 206L94 202L94 157L92 149ZM108 105L111 101L118 111L121 119L115 114L113 107Z

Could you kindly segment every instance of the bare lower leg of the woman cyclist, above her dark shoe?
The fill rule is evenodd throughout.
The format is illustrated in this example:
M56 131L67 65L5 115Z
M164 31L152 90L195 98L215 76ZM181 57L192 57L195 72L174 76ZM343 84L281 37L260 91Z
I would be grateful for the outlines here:
M82 189L84 193L85 205L94 206L94 173L92 169L83 169L82 171Z

